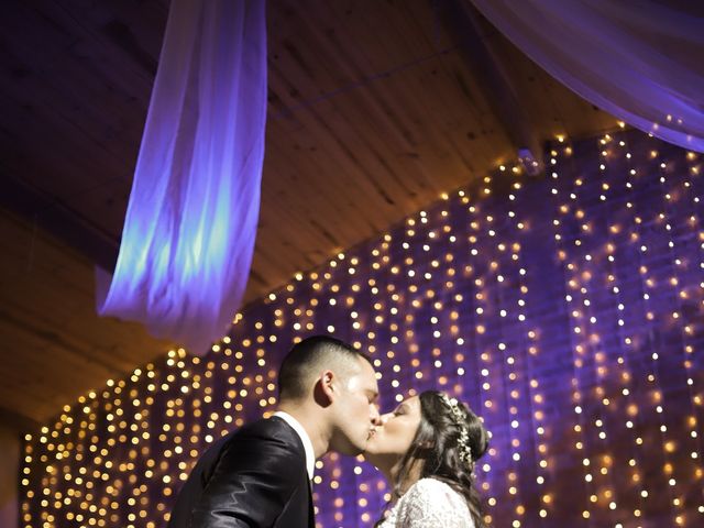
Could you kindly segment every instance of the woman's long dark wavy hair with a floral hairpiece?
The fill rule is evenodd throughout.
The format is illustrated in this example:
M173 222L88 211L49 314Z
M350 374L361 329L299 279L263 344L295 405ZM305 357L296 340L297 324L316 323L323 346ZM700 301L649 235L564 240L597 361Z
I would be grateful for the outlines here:
M474 486L474 465L488 448L488 431L463 403L453 403L457 408L453 413L447 396L438 391L420 393L419 399L420 425L410 448L398 464L398 472L392 483L392 501L403 495L407 479L419 469L418 479L437 479L460 493L466 501L474 526L485 528L482 499ZM462 428L466 430L465 439L461 439Z

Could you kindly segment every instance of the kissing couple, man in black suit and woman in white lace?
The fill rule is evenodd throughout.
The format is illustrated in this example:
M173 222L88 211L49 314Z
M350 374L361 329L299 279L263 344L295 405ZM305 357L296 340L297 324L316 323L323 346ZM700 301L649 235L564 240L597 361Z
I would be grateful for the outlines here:
M295 344L278 408L216 441L180 490L169 528L314 528L317 459L364 454L386 477L382 528L483 528L474 466L490 435L468 406L426 391L380 415L370 359L328 336Z

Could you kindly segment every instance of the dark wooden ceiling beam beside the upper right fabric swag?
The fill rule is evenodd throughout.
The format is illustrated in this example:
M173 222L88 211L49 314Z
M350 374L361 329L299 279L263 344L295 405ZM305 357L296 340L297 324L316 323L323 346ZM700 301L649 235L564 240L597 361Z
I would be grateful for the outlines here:
M493 50L497 30L469 0L438 0L438 13L454 35L462 57L490 108L503 124L526 172L537 176L543 169L541 141L528 120L518 90L499 55Z

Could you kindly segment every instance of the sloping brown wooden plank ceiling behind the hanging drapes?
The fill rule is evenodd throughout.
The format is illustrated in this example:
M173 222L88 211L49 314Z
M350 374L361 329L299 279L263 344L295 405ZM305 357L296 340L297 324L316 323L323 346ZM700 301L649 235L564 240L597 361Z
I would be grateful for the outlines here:
M170 346L95 314L95 266L117 257L167 12L167 0L3 4L0 418L16 427ZM271 0L267 26L246 302L521 146L615 123L466 0Z

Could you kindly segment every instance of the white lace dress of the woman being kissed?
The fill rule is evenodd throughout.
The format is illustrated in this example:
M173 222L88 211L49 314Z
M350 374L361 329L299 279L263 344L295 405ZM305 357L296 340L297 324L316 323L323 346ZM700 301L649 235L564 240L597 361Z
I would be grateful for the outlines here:
M398 499L381 528L474 528L462 495L444 482L421 479Z

